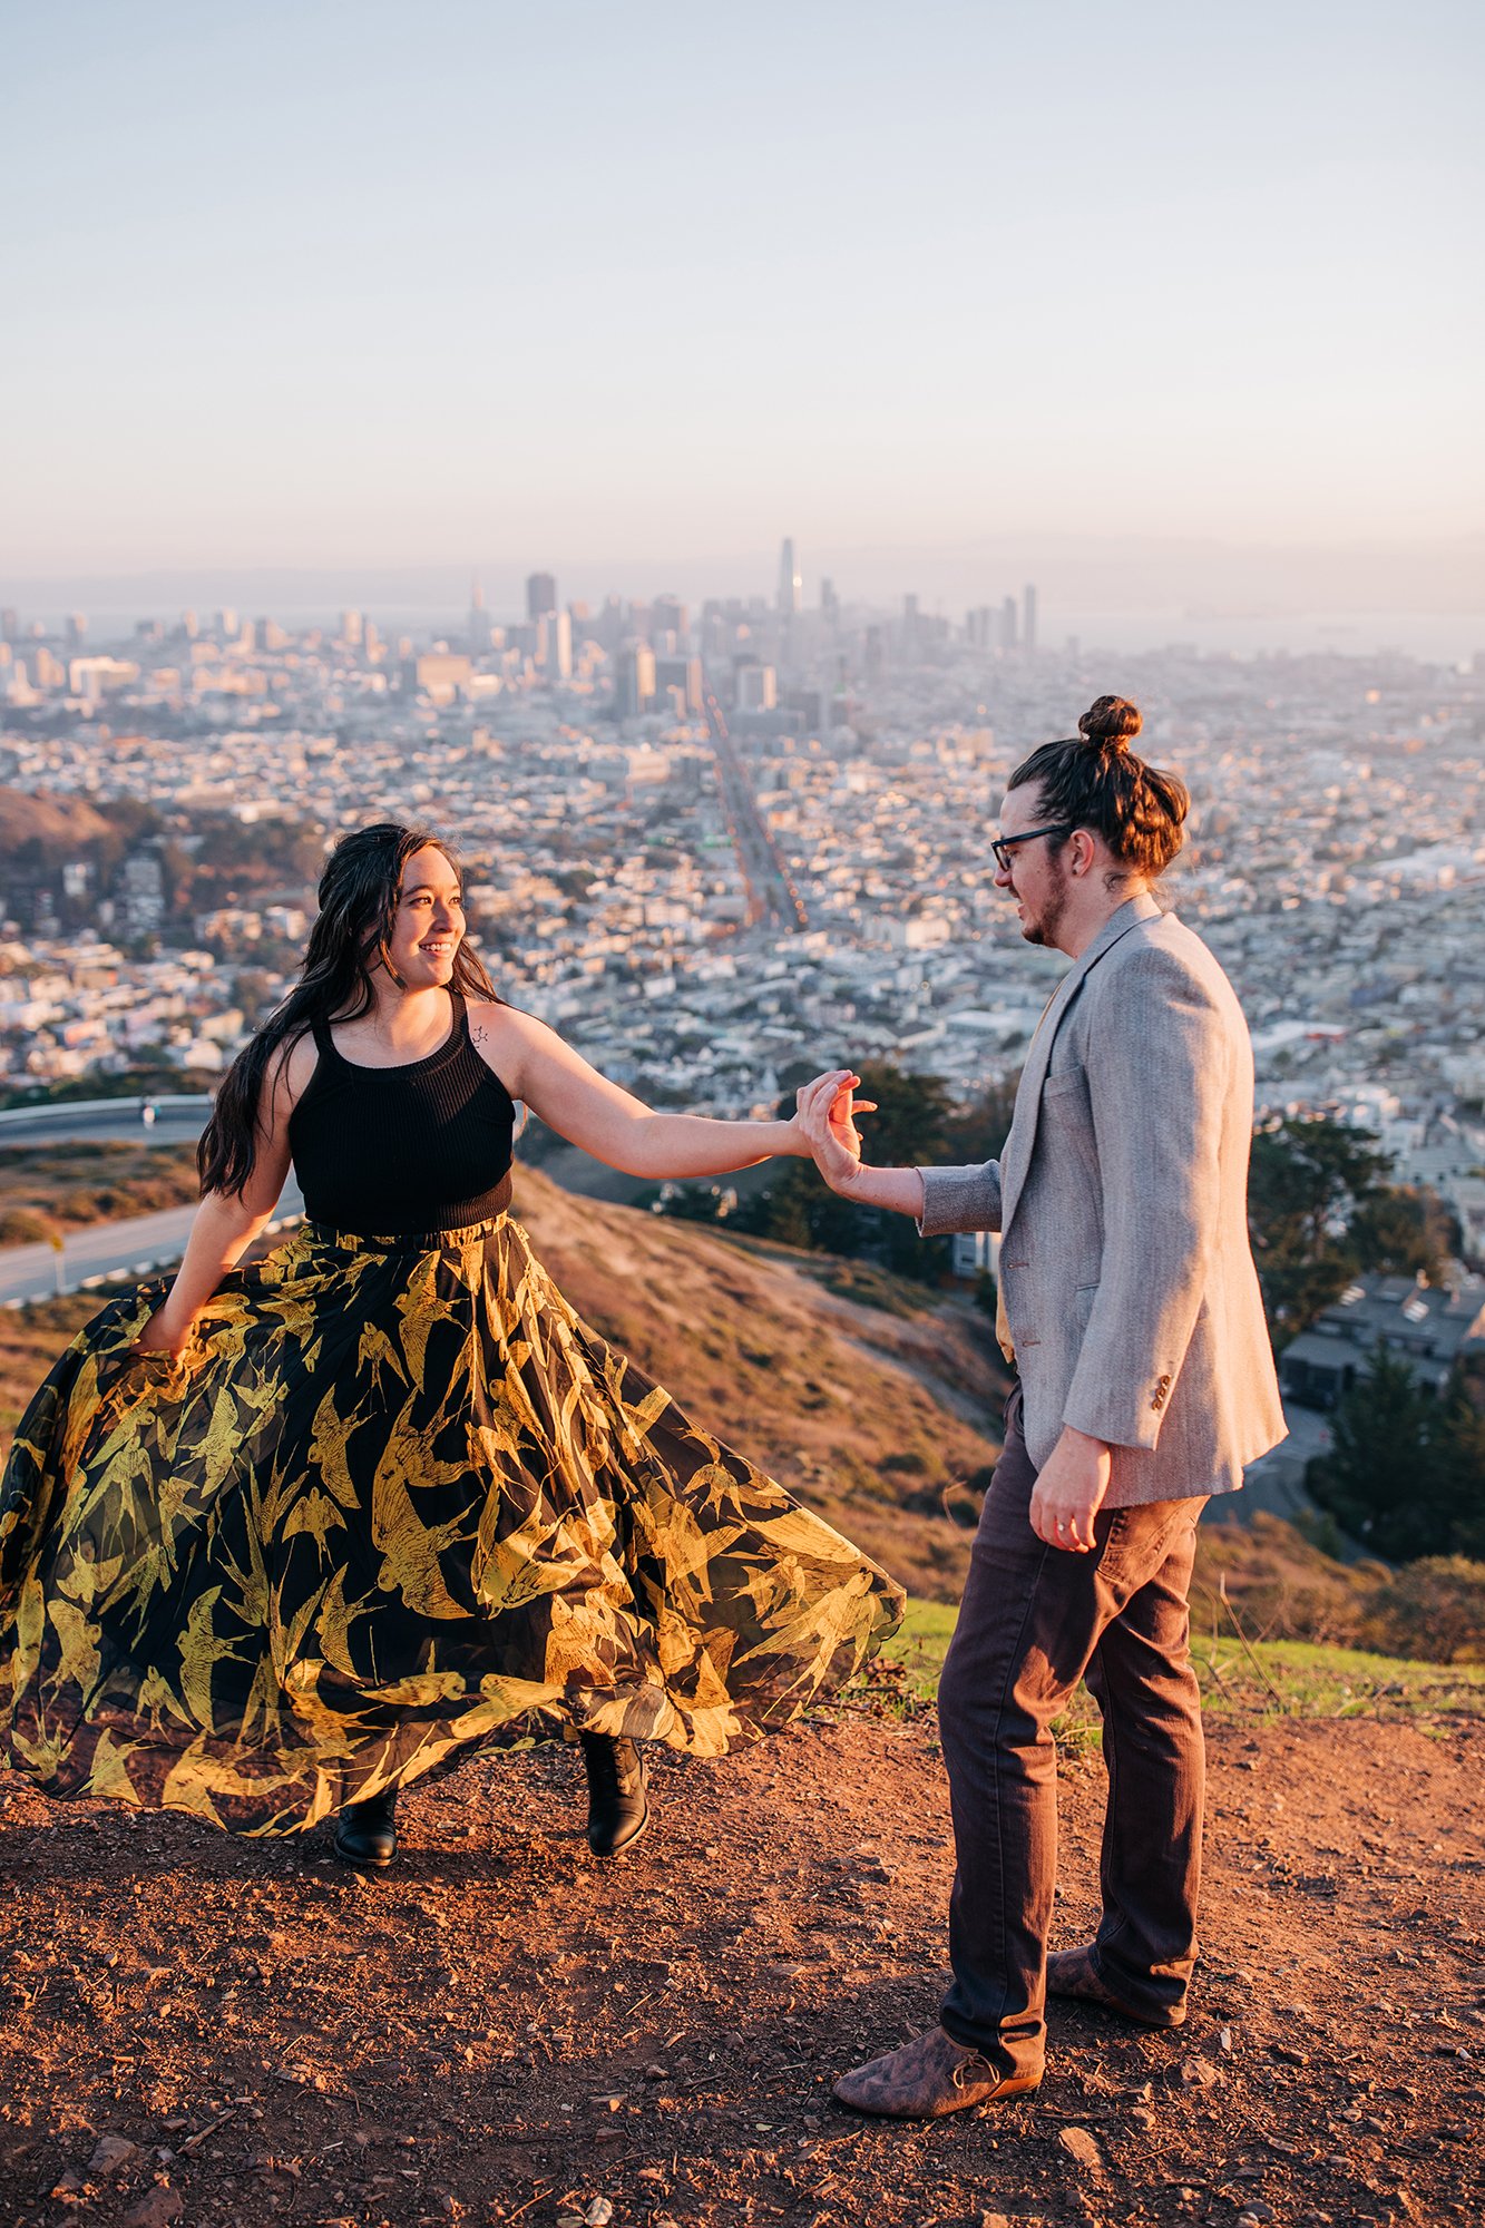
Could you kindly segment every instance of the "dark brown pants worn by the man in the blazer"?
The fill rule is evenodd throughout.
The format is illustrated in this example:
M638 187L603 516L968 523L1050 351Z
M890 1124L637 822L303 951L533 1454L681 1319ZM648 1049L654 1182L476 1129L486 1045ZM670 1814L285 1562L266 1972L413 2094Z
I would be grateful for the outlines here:
M1095 1965L1137 2010L1180 2005L1202 1878L1202 1704L1186 1593L1206 1499L1113 1508L1095 1551L1030 1528L1021 1388L1006 1406L959 1626L939 1684L954 1818L943 2025L1006 2074L1037 2072L1057 1878L1052 1718L1079 1678L1104 1716L1108 1814Z

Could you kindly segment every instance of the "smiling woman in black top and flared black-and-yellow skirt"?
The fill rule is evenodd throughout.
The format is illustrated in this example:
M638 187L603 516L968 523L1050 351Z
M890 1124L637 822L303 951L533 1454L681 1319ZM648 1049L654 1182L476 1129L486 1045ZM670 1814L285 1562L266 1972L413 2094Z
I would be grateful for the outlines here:
M589 1838L644 1827L635 1738L716 1756L838 1684L894 1584L691 1426L508 1214L513 1101L635 1176L805 1154L653 1114L502 1005L453 858L379 824L223 1081L181 1270L103 1310L0 1491L11 1760L51 1794L395 1851L395 1794L531 1713ZM303 1230L239 1268L290 1163Z

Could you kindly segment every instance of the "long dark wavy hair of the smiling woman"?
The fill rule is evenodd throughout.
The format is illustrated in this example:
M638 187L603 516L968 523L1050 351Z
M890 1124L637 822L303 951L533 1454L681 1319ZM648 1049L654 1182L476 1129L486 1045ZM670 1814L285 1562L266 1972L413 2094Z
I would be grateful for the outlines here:
M196 1145L201 1192L241 1196L259 1161L259 1118L268 1069L279 1069L314 1020L359 1020L377 1003L372 967L392 974L388 942L397 916L401 873L415 851L441 851L459 862L426 829L404 829L395 820L341 836L319 878L319 918L299 971L299 983L252 1036L221 1078L212 1118ZM493 998L495 985L479 954L462 940L455 951L453 985L462 996Z

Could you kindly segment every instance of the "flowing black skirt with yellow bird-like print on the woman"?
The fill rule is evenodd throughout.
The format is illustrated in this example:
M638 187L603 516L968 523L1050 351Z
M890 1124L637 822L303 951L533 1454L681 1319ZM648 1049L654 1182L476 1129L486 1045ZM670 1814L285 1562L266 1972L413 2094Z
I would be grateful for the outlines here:
M903 1597L566 1306L511 1216L305 1225L183 1357L107 1306L0 1486L0 1738L56 1796L294 1834L582 1727L718 1756Z

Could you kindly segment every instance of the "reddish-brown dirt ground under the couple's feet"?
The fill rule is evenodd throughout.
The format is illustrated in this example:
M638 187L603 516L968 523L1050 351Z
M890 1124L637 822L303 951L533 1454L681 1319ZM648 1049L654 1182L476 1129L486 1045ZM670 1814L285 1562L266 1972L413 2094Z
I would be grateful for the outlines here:
M934 2019L932 1718L660 1756L598 1865L575 1751L404 1800L361 1878L0 1776L0 2219L1478 2224L1485 1724L1217 1724L1204 1961L1171 2036L1052 2007L1041 2090L881 2126L829 2079ZM1101 1767L1064 1767L1057 1941Z

